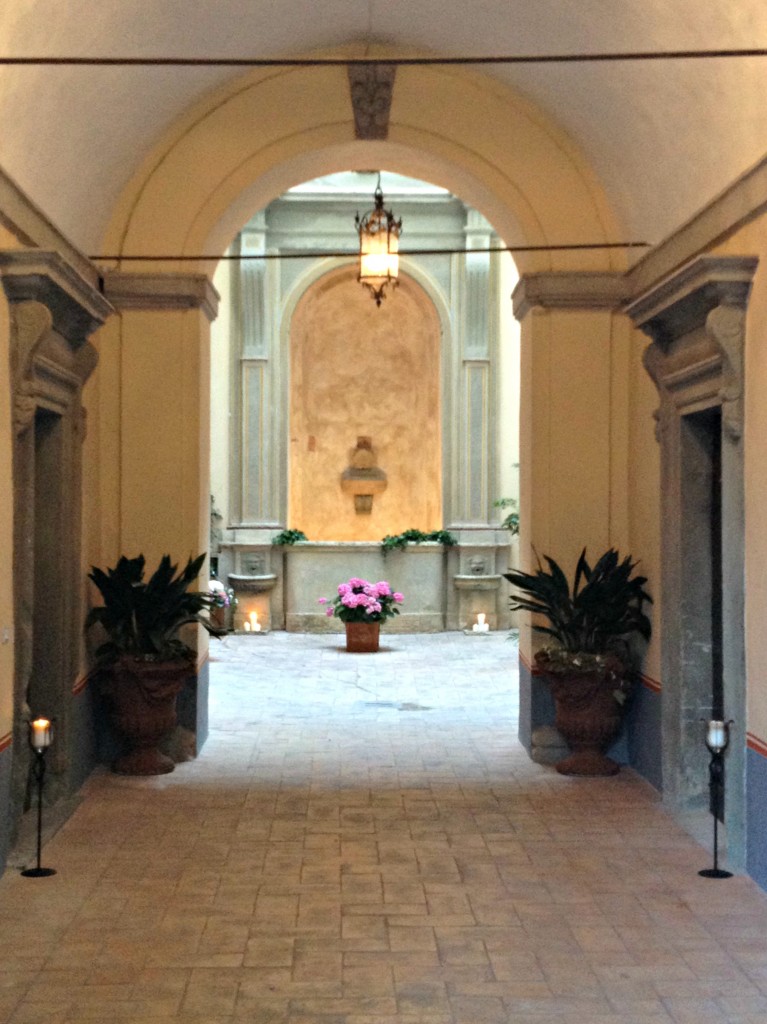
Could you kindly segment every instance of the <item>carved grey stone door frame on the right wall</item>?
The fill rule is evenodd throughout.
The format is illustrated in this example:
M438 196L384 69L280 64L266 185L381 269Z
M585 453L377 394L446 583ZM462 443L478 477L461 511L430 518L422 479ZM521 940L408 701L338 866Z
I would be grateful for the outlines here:
M745 309L756 257L702 256L682 267L627 312L652 343L644 365L661 398L662 750L664 801L674 811L699 806L709 754L700 718L711 716L711 683L702 651L685 618L695 582L684 556L694 530L685 508L691 470L685 431L697 414L714 413L721 432L721 657L723 711L733 719L727 753L725 828L730 864L741 866L745 837L745 638L743 511L743 351ZM699 420L699 417L698 417ZM687 454L685 454L687 453ZM687 475L686 475L687 474ZM717 538L717 543L720 543ZM719 596L717 595L717 601ZM696 651L697 645L697 651ZM707 685L709 703L707 706Z

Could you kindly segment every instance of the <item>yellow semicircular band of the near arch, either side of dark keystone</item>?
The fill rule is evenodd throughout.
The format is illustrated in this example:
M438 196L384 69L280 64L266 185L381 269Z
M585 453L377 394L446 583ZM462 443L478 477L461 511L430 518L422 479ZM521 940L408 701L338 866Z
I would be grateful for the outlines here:
M376 51L385 55L383 48ZM357 53L358 47L348 47L350 56ZM341 67L256 71L201 100L142 162L116 206L103 251L223 252L242 225L286 188L332 171L376 166L444 185L508 242L620 239L578 147L519 94L465 70L401 68L388 139L354 140ZM520 265L625 264L620 254L601 251L548 253Z

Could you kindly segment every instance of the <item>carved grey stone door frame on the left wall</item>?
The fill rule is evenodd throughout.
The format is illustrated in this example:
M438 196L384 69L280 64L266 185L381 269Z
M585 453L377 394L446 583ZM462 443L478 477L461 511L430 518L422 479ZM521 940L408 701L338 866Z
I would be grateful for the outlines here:
M10 305L10 383L13 430L13 602L15 673L13 682L13 769L11 828L17 824L28 784L30 752L26 717L30 710L56 718L51 749L51 799L72 785L72 687L80 668L83 570L81 565L82 441L85 411L82 389L97 354L86 340L112 311L109 302L57 253L40 250L0 252L0 282ZM34 662L45 630L35 595L36 424L55 430L58 508L50 515L60 530L51 552L51 575L60 592L51 600L51 685L46 708L29 707L35 694ZM51 457L49 457L49 462ZM39 595L38 595L39 596ZM53 685L55 680L55 685Z

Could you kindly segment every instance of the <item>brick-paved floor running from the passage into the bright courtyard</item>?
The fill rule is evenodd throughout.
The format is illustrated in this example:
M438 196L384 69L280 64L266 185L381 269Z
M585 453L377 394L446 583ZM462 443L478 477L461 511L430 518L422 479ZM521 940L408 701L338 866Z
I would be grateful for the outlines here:
M516 741L505 636L229 637L211 735L0 880L8 1024L764 1024L767 897Z

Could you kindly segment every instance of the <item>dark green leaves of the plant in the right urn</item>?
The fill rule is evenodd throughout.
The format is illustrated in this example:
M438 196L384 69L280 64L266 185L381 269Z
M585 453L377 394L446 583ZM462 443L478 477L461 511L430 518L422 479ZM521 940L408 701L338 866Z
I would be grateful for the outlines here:
M547 625L534 624L553 646L539 651L537 660L546 662L547 672L588 671L617 659L631 665L630 641L637 635L650 637L650 621L643 611L652 598L644 589L647 578L635 575L637 563L631 556L621 559L610 548L592 566L581 553L572 587L553 558L544 556L532 573L512 569L504 577L521 591L511 598L512 610L531 611ZM542 655L542 657L539 657Z

